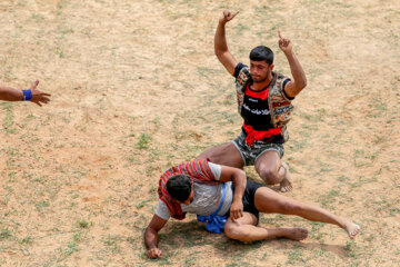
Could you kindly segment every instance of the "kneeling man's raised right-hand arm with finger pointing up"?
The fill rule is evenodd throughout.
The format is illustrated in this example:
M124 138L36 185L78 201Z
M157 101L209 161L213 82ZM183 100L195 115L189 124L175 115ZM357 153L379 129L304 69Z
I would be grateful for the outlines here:
M286 85L284 91L288 97L296 97L307 86L306 73L292 50L291 41L287 38L283 38L280 30L278 31L278 36L279 36L279 48L283 51L284 56L287 57L291 73L293 76L293 80L289 81Z

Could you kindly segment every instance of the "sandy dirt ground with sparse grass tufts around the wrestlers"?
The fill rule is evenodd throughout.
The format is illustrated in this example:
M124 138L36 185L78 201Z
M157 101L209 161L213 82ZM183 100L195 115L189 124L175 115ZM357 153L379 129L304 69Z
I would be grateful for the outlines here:
M223 9L229 48L258 44L290 75L277 30L308 77L296 98L284 160L289 197L351 218L302 226L308 239L240 244L189 216L143 230L159 176L240 132L232 78L213 55ZM399 266L400 2L396 0L1 0L0 85L36 79L42 108L0 103L0 266ZM259 180L252 167L249 179Z

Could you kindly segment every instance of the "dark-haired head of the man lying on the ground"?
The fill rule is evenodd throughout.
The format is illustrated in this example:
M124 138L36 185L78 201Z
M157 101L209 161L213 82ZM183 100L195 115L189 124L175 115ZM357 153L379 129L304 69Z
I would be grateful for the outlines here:
M186 175L177 175L167 181L167 191L178 201L186 201L191 191L191 179Z

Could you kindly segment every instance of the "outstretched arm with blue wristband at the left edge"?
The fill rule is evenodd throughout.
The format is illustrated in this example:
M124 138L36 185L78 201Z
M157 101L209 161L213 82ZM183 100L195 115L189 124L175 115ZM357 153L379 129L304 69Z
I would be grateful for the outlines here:
M18 90L10 87L0 87L0 100L3 101L31 101L41 107L42 103L48 103L50 93L39 91L37 80L29 89Z

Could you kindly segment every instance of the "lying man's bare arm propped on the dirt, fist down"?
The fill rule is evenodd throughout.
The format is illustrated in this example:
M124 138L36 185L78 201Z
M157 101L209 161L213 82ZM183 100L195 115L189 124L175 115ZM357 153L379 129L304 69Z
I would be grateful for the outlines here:
M149 258L159 258L161 257L162 253L161 249L158 248L159 244L159 236L158 233L162 229L162 227L167 224L167 220L160 218L157 215L153 215L149 226L146 228L144 231L144 244L146 247L149 249L147 256Z

